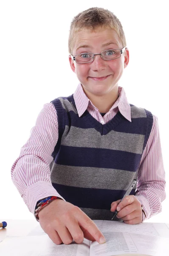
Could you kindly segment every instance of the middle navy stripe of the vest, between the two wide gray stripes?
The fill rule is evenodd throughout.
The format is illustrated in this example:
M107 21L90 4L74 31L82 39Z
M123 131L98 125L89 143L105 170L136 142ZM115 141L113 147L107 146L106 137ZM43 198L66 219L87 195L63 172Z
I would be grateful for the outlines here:
M130 159L130 161L129 161ZM67 166L86 166L136 172L141 154L105 148L80 148L61 145L55 163Z

